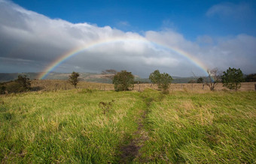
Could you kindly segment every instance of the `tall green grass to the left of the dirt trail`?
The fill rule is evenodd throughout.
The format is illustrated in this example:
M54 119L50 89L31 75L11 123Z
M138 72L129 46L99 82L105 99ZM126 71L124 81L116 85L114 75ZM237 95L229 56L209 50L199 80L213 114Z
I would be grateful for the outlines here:
M56 91L1 97L2 163L117 163L137 129L136 93ZM99 102L113 106L107 113Z

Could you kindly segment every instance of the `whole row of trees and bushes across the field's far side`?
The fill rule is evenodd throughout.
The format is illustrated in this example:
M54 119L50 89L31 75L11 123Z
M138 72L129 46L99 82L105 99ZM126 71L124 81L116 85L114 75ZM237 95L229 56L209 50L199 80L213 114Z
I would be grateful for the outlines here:
M242 70L236 68L227 69L224 72L219 72L217 68L208 70L207 77L200 77L196 81L197 83L203 83L209 86L211 91L215 90L215 87L218 83L222 83L224 87L229 88L230 90L235 90L241 88L241 82L255 82L256 73L250 74L244 78ZM104 70L102 74L105 78L111 79L114 84L114 91L130 91L133 90L135 80L131 72L126 70L121 70L117 72L116 70ZM73 72L69 76L69 83L74 85L77 88L80 74ZM172 76L168 73L160 73L159 70L154 70L149 77L152 85L157 85L158 88L163 93L169 92L169 87L172 83ZM18 78L11 82L0 83L0 94L6 93L17 93L23 91L31 91L31 80L25 76L18 76Z

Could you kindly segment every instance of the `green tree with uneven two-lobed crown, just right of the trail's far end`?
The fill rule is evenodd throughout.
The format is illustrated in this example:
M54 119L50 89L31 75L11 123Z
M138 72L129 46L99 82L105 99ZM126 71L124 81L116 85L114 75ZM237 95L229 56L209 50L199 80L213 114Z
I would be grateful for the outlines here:
M163 93L168 93L169 85L172 82L172 76L169 76L168 73L160 73L159 70L155 70L150 74L149 79L153 84L157 84Z

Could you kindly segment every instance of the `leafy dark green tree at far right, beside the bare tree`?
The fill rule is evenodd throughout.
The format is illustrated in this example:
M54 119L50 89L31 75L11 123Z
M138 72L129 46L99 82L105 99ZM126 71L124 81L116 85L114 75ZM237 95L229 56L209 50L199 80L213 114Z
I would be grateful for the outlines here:
M242 70L240 68L236 70L236 68L228 68L228 70L223 72L223 76L221 76L222 83L224 87L231 89L235 89L237 91L238 88L241 88L241 82L243 79Z

